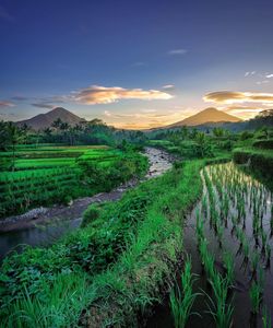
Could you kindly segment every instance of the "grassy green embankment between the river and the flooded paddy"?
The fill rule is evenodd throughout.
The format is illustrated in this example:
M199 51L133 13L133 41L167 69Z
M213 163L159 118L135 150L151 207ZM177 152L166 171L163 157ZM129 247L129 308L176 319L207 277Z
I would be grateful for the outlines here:
M32 303L46 296L45 303L48 308L50 308L51 302L50 293L57 288L55 277L60 272L59 270L75 272L80 285L81 278L86 272L90 279L82 296L86 302L82 302L81 309L78 307L78 303L72 304L69 311L62 308L59 304L62 300L55 305L60 308L61 317L68 316L69 325L67 326L76 324L83 308L86 308L81 316L83 325L103 327L123 323L130 326L136 319L139 311L144 311L155 298L158 300L159 288L173 280L173 270L182 249L180 218L189 211L201 195L202 184L199 171L202 165L203 162L186 163L182 168L174 169L159 178L143 183L136 189L128 192L119 202L104 207L102 216L95 220L93 225L87 225L86 229L79 232L76 238L71 236L66 243L57 243L54 249L29 250L28 254L13 257L10 261L5 261L7 270L11 272L10 270L13 268L15 272L19 272L21 266L20 272L24 272L21 278L27 280L27 291L32 292ZM149 196L149 204L145 208L140 207L139 214L134 212L133 208L124 213L124 203L131 204L135 195L144 190ZM139 219L140 214L142 220ZM120 225L116 225L117 218L124 218L123 222L130 218L134 222L132 226L134 229L129 226L127 230L127 242L123 246L119 242L120 236L124 235L124 231L120 231L123 223L118 220ZM117 229L109 233L112 224ZM94 232L97 236L94 235ZM97 244L98 241L100 244ZM99 256L94 256L95 249L99 251L97 254L100 254ZM114 257L114 261L109 261L112 254L116 254L117 257ZM95 262L94 259L96 259ZM34 272L32 271L33 266ZM58 266L60 269L57 269ZM40 274L41 269L44 273L41 271ZM12 272L14 272L13 270ZM5 286L5 291L9 290L10 293L14 288L20 288L20 280L14 280L15 284L11 284L9 274L7 276L8 281L4 283L4 277L1 277L1 286ZM48 293L40 294L38 292L41 291L39 281L47 283ZM78 283L73 286L74 291L79 289ZM22 297L20 300L24 302ZM14 296L10 302L5 302L5 304L10 304L8 307L1 308L1 315L4 315L5 318L14 313ZM25 308L22 303L21 307ZM69 312L74 313L73 318L69 316ZM39 313L36 313L36 316L38 317ZM67 327L59 324L57 319L54 319L52 326Z

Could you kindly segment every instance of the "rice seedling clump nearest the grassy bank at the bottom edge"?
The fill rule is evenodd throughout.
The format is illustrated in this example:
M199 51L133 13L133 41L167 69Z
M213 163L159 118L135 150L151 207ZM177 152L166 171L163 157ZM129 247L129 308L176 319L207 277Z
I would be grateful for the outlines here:
M197 277L191 272L191 260L187 259L181 274L181 291L178 285L170 292L170 308L176 328L183 328L192 313L192 306L200 293L193 293L192 285Z

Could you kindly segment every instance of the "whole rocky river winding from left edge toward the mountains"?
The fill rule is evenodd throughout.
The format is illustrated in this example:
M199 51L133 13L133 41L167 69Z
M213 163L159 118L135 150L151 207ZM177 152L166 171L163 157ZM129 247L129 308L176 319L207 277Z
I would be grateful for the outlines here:
M5 218L0 222L0 257L20 244L32 246L52 244L61 235L80 226L83 212L91 203L119 200L123 192L145 179L162 175L171 167L173 157L158 149L146 148L150 168L142 180L131 179L110 192L74 200L69 206L36 208L24 214Z

